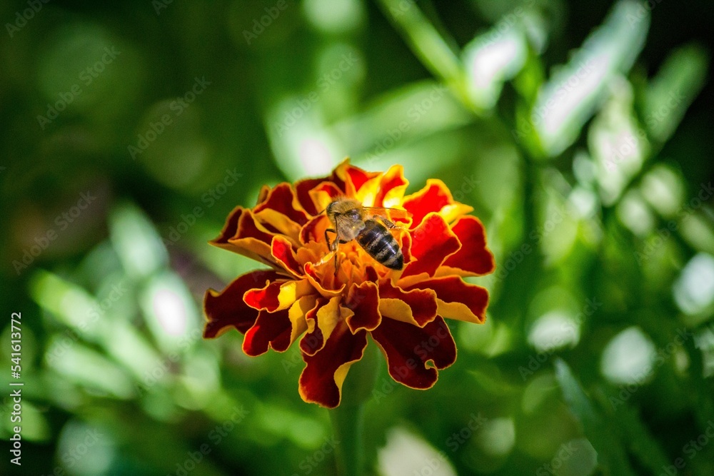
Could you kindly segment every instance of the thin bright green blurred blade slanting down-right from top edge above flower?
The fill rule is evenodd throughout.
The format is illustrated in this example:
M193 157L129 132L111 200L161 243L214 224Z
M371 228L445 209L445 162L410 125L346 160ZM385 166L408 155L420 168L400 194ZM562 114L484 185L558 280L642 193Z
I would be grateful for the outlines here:
M416 1L380 0L388 19L406 36L412 51L429 71L455 91L464 104L470 103L463 65Z

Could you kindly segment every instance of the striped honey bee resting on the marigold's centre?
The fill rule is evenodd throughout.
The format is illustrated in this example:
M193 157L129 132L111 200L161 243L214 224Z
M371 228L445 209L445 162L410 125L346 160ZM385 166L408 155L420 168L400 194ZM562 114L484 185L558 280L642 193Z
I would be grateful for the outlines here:
M399 243L389 232L398 228L389 220L388 212L395 216L409 216L410 213L396 208L366 207L353 198L340 197L326 208L327 217L333 228L325 230L327 246L335 254L335 275L337 275L337 248L340 243L357 243L378 263L393 270L404 268L404 255ZM331 242L328 233L335 239Z

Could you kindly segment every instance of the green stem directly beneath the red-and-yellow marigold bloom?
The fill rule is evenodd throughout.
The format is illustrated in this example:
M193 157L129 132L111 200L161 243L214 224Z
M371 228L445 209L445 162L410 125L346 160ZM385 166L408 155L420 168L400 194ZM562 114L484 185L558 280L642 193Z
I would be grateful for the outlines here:
M330 410L340 476L364 474L364 404L376 381L377 354L374 343L367 345L362 360L352 365L343 383L340 406Z

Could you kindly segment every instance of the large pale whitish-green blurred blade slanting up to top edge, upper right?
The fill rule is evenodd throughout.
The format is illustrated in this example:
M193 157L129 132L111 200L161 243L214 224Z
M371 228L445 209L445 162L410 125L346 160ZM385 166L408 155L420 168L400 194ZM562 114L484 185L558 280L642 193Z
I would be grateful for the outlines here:
M529 119L547 156L557 156L578 138L608 96L613 76L626 74L632 67L649 24L649 11L643 4L618 2L568 64L540 88Z

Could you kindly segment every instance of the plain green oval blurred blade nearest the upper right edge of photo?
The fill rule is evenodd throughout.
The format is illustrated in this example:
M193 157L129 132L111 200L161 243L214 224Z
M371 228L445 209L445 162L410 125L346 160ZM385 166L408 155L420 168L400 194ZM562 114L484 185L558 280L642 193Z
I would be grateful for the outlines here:
M655 141L663 143L674 133L699 91L704 87L708 54L690 44L670 54L650 82L645 95L645 125Z

